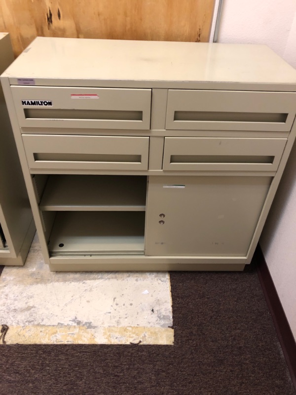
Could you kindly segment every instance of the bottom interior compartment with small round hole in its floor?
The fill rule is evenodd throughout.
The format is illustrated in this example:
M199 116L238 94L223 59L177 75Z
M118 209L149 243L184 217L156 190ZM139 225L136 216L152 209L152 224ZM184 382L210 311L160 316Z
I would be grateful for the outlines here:
M59 211L48 249L57 255L144 254L145 212Z

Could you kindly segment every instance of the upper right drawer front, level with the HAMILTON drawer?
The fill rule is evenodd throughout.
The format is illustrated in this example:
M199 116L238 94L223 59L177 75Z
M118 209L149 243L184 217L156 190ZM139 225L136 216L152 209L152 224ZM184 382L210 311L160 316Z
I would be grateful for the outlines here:
M168 91L166 129L290 131L296 93Z

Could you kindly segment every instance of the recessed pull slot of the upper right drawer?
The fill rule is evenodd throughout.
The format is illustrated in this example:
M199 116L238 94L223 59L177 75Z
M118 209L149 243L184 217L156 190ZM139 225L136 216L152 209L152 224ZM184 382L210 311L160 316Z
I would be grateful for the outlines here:
M174 121L277 122L285 123L288 114L228 113L215 111L175 111Z

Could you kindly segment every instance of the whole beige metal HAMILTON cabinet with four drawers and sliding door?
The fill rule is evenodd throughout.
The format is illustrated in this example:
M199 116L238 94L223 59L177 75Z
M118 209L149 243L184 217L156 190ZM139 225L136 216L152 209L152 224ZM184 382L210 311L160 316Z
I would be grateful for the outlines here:
M296 135L268 47L37 38L1 81L51 270L251 262Z

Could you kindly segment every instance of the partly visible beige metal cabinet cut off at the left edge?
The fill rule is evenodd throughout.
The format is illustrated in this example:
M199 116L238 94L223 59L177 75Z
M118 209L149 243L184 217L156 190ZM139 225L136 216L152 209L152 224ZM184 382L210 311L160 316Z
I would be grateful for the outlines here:
M0 72L13 62L9 35L0 33ZM23 265L35 225L2 89L0 89L0 265Z

